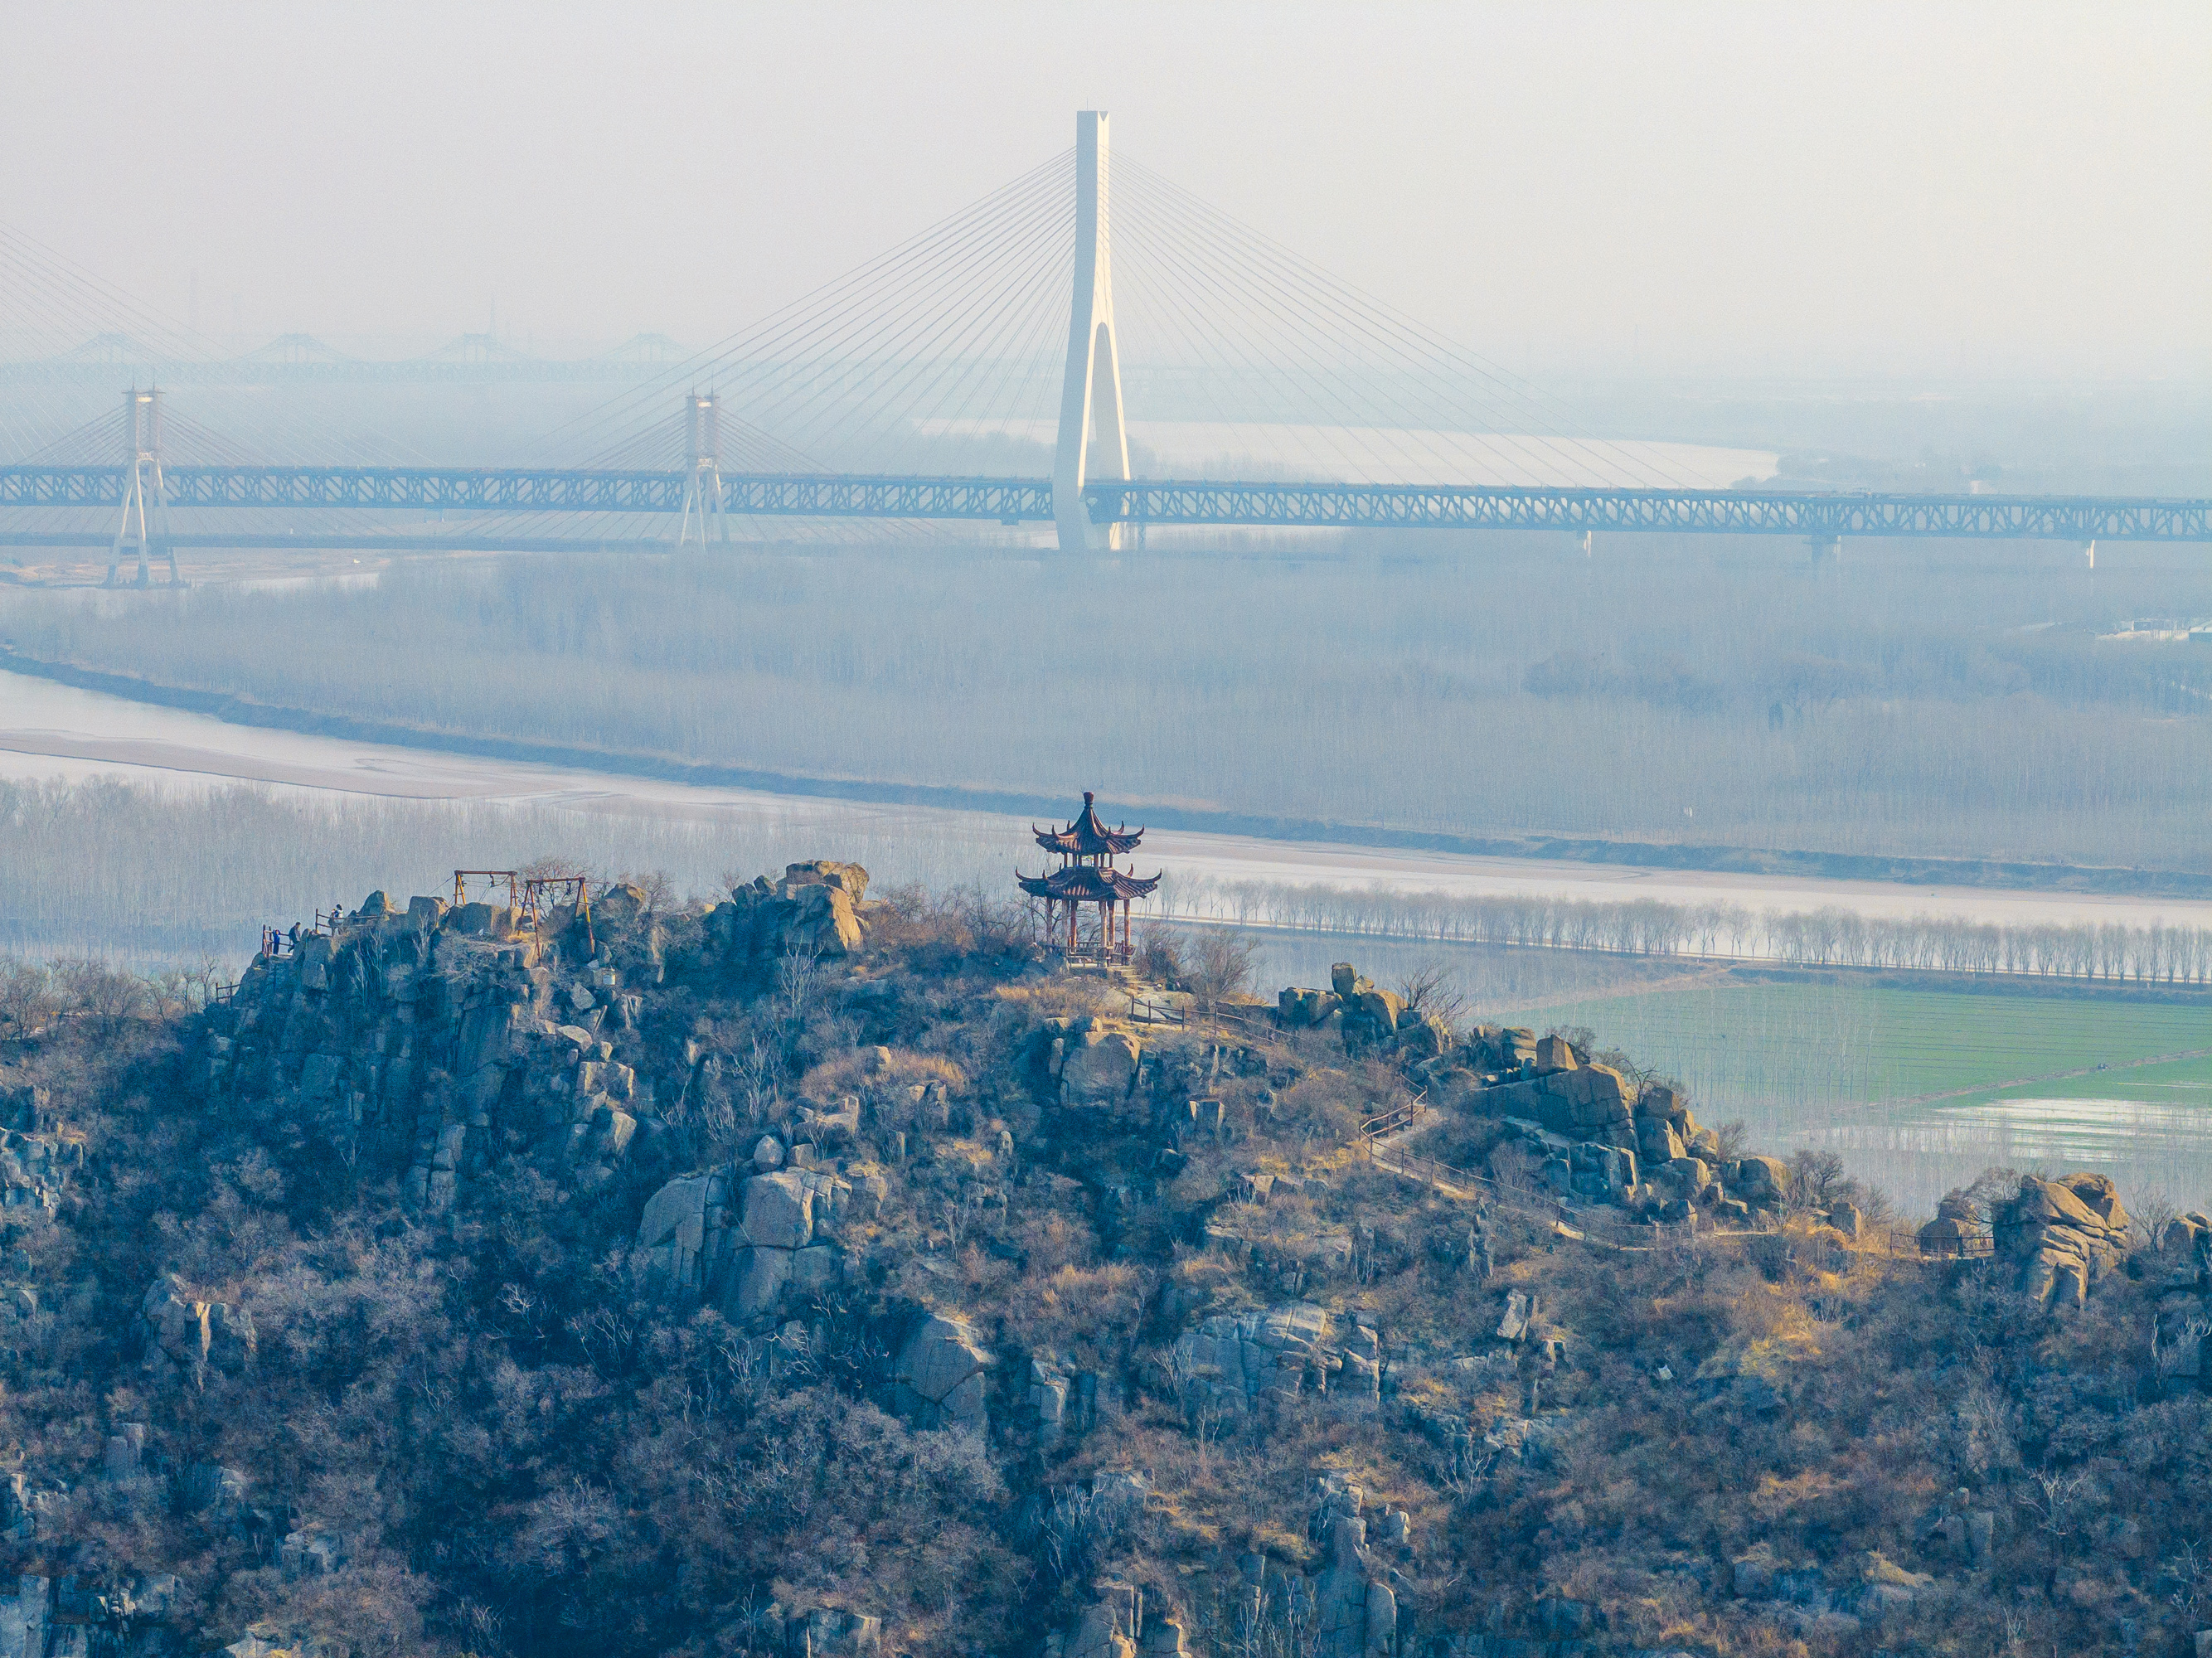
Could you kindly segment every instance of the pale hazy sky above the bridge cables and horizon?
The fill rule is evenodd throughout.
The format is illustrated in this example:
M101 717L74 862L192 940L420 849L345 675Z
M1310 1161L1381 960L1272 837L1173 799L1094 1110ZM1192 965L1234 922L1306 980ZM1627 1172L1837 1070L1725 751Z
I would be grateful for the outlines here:
M717 338L1113 111L1535 369L2212 374L2212 4L13 0L0 221L210 334Z

